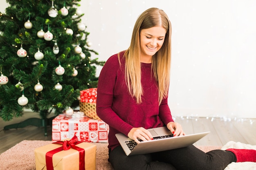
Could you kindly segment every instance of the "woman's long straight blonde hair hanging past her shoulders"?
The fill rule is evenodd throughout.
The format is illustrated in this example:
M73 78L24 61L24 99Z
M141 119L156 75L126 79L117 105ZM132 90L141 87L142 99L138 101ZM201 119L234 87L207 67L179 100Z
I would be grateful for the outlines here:
M136 98L137 104L142 102L141 95L141 66L140 66L140 41L139 33L142 29L153 26L162 26L166 30L162 48L152 57L152 69L158 83L159 104L168 95L171 69L171 22L166 13L158 8L150 8L144 11L137 19L133 32L130 47L126 50L124 57L125 77L129 93Z

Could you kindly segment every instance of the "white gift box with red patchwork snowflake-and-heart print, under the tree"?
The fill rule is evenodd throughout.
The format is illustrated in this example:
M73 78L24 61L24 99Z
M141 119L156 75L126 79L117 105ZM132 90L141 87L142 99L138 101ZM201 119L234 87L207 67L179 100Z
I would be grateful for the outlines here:
M79 141L108 143L109 126L102 120L74 112L73 117L58 115L52 120L52 140L59 141L74 135Z

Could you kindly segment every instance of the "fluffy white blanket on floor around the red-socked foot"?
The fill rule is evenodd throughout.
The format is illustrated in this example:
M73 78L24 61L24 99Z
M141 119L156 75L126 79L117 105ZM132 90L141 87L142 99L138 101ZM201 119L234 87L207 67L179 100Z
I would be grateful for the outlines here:
M253 146L249 144L242 144L240 142L229 141L221 149L227 150L229 148L256 150L256 145ZM256 170L256 163L255 162L232 162L225 168L225 170Z

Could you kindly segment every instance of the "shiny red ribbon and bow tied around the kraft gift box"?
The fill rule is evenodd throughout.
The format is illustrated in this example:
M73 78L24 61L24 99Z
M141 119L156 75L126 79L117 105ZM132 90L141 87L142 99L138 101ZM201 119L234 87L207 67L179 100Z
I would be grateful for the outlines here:
M52 156L55 153L60 152L62 150L69 150L70 148L73 148L73 149L79 151L79 170L85 170L85 150L83 148L79 148L78 146L75 146L75 145L80 144L80 143L82 143L82 142L78 141L76 135L74 135L74 137L72 137L72 139L70 139L70 141L56 141L56 142L54 142L53 144L62 144L62 146L46 153L45 160L46 160L47 170L54 170L53 169Z

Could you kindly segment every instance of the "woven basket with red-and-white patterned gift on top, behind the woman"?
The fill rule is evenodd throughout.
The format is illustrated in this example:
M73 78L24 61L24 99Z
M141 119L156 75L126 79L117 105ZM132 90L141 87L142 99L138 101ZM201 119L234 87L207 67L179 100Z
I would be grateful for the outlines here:
M79 107L86 116L100 120L96 113L97 88L80 91Z

